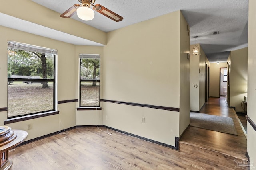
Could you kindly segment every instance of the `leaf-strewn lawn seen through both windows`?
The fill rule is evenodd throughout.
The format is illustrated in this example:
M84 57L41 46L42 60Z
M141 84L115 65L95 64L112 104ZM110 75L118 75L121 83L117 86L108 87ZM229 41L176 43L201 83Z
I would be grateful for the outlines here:
M54 109L53 83L49 88L42 88L40 83L26 84L12 82L8 85L8 117L50 111ZM100 84L92 86L92 82L81 84L81 106L100 105Z

